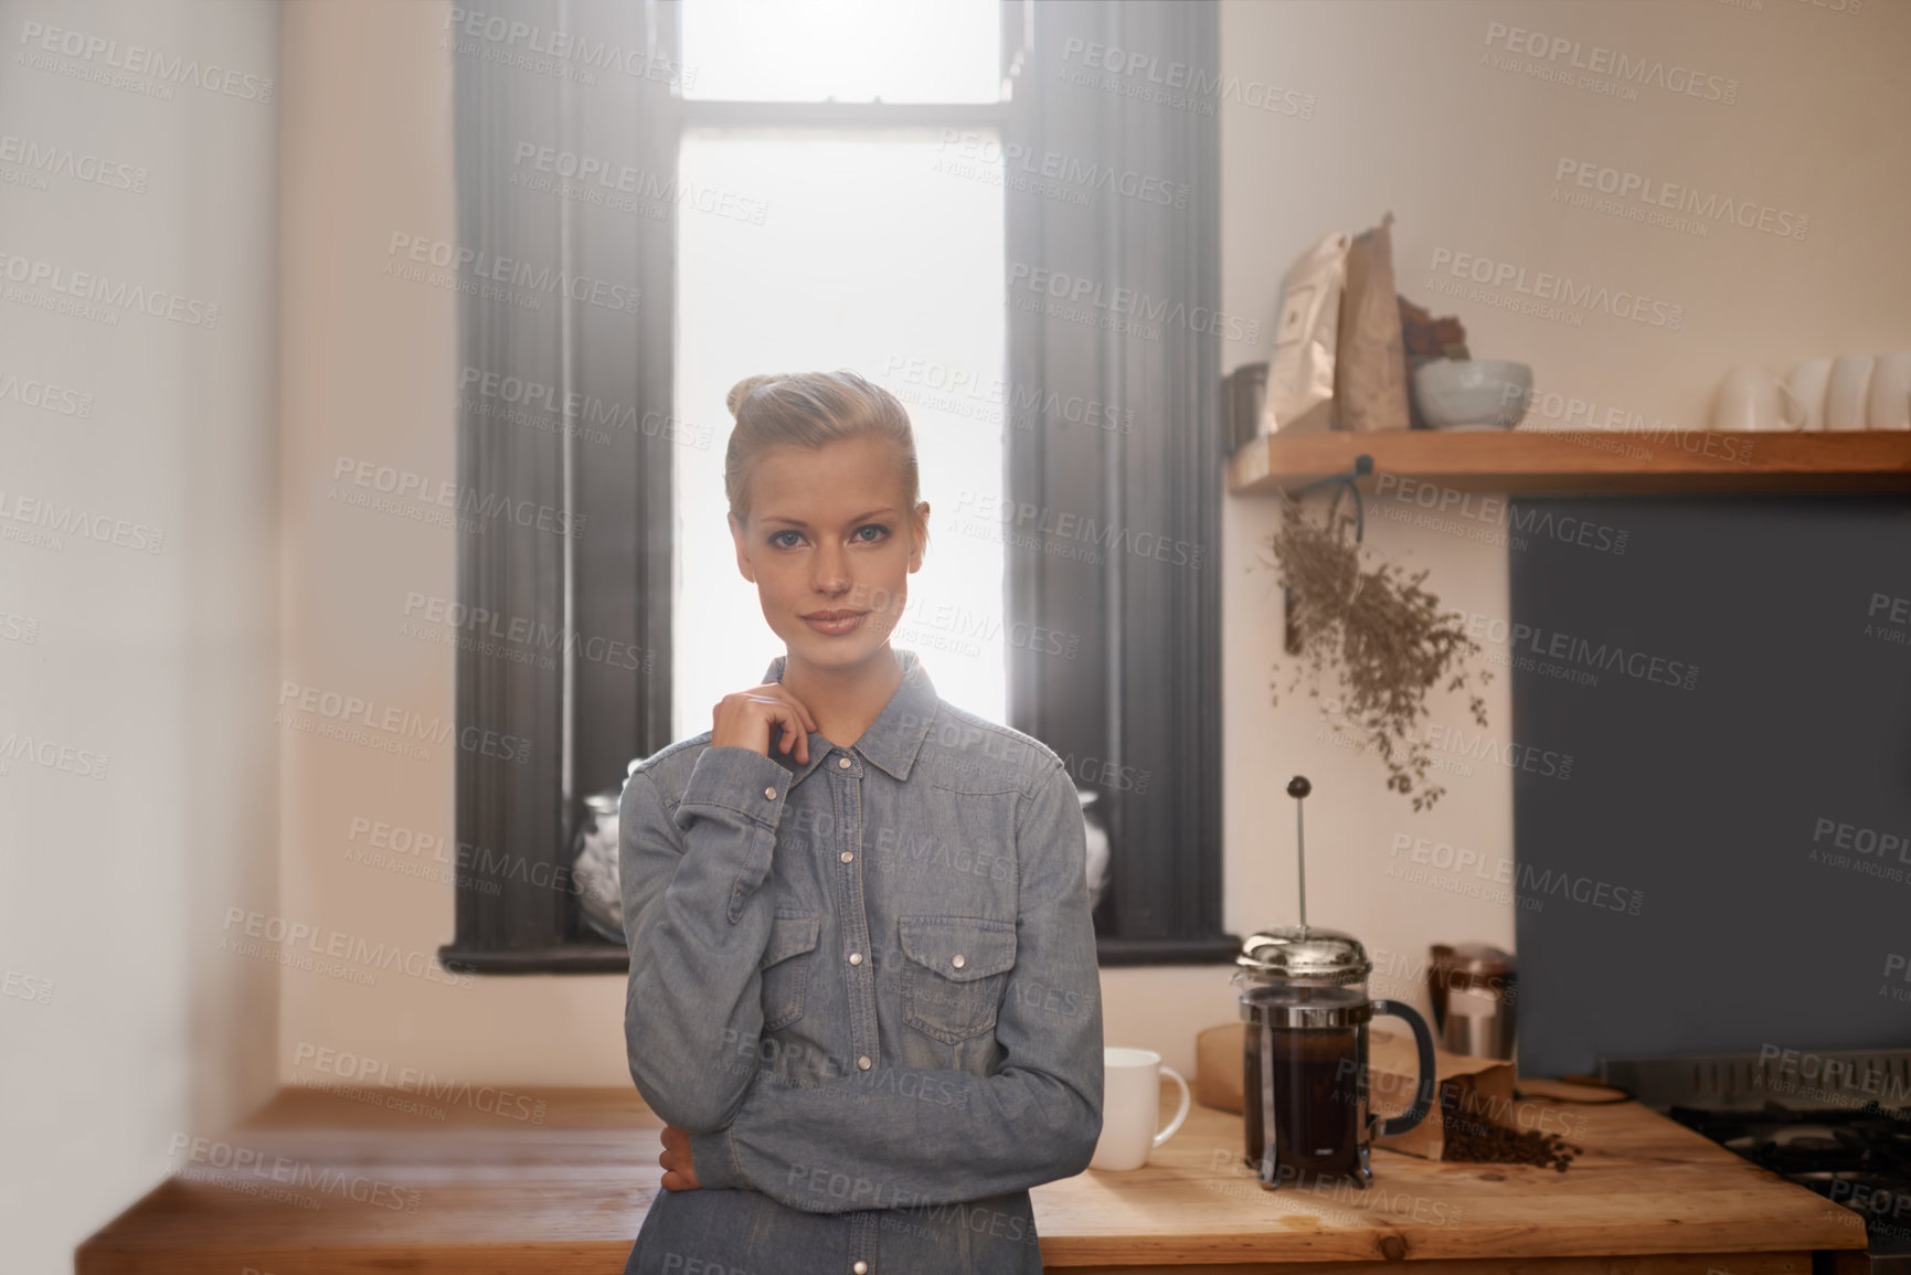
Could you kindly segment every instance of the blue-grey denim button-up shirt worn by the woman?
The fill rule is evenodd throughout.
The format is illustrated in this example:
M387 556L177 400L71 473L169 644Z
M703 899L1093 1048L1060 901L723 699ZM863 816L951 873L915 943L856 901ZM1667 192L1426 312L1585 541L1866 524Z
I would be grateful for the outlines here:
M1040 740L913 652L848 747L636 765L619 805L625 1042L699 1189L629 1273L1041 1269L1028 1189L1087 1168L1103 1036L1082 805ZM784 656L764 681L782 681Z

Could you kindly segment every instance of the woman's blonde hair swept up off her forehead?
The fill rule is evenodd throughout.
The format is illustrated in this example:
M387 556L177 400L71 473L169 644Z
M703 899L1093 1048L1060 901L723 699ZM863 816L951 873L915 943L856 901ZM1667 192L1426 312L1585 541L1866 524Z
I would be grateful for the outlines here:
M728 394L730 445L722 461L724 495L738 522L749 522L749 476L770 447L822 447L841 438L875 434L896 445L902 463L902 512L915 533L929 539L927 522L917 522L921 476L915 465L915 432L902 400L852 371L766 373L743 377Z

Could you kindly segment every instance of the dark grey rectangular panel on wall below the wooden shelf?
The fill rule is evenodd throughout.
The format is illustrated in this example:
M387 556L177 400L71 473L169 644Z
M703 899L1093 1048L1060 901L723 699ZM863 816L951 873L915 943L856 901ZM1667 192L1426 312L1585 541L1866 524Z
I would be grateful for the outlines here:
M1911 499L1508 524L1521 1072L1911 1044Z

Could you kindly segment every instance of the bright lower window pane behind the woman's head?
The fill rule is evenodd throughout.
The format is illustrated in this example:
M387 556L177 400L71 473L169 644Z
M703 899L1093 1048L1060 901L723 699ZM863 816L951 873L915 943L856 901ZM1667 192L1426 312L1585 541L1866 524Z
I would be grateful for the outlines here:
M757 373L841 367L910 409L931 508L891 644L921 656L942 698L1003 719L1001 147L978 136L952 164L940 132L684 134L684 189L766 210L755 224L684 205L678 222L675 411L709 447L676 449L675 738L709 730L709 705L784 652L736 568L724 396Z

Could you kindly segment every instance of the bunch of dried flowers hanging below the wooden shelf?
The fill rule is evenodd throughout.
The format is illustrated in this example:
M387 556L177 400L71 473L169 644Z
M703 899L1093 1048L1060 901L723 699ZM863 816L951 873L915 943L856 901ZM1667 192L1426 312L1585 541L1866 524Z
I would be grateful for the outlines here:
M1336 501L1338 507L1338 501ZM1387 788L1410 795L1414 810L1431 807L1447 791L1428 784L1431 751L1416 726L1428 715L1428 692L1439 684L1468 690L1473 721L1487 724L1487 705L1470 690L1492 673L1466 665L1479 642L1466 635L1458 612L1441 612L1426 589L1428 572L1405 575L1389 562L1366 568L1363 547L1347 537L1351 516L1313 522L1299 501L1284 499L1280 529L1269 537L1278 560L1278 579L1288 596L1288 654L1298 656L1292 692L1309 675L1309 696L1334 665L1345 696L1338 705L1345 724L1387 763ZM1275 694L1278 702L1280 694ZM1418 791L1416 791L1418 789Z

